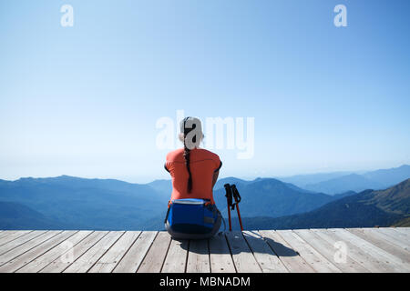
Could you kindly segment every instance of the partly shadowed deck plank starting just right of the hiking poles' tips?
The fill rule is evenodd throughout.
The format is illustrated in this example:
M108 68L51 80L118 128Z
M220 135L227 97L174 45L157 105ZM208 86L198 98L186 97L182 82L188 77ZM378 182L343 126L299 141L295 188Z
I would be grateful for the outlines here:
M288 273L288 269L257 231L244 231L243 237L263 273Z

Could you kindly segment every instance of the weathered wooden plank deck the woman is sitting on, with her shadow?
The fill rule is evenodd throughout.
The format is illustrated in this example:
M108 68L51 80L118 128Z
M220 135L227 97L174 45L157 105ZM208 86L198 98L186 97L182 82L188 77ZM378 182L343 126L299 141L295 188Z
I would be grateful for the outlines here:
M0 272L410 272L410 227L263 230L210 240L155 231L0 231Z

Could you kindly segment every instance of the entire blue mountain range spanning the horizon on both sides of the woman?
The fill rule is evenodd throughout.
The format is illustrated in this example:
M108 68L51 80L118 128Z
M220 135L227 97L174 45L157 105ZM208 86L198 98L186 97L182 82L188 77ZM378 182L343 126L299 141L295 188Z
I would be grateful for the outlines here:
M352 190L359 186L372 188L375 184L368 181L373 180L378 187L390 184L405 176L409 167L363 174L319 174L313 176L311 181L315 183L310 184L306 176L282 178L282 181L225 177L214 186L214 198L226 217L223 186L235 184L241 193L241 216L247 229L403 225L408 224L408 186L400 188L399 184L389 188L390 192L374 191L378 190L375 187L360 193ZM409 177L410 174L405 179ZM289 182L292 179L298 180L299 185ZM307 185L302 187L302 183L327 188L322 193ZM163 229L170 192L170 180L148 184L74 176L0 180L0 229L159 230ZM236 211L232 215L236 216Z

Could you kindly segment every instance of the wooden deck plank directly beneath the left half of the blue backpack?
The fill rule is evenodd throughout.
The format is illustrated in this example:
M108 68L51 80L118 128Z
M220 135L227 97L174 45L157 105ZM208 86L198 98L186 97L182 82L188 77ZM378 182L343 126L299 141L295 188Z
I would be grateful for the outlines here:
M189 241L172 239L161 273L184 273L187 263Z

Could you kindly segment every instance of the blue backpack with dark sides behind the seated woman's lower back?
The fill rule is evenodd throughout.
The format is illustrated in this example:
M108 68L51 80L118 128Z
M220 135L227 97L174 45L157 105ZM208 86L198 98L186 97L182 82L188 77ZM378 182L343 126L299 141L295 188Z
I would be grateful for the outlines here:
M165 225L175 238L206 238L220 228L220 212L210 200L175 199L169 204Z

